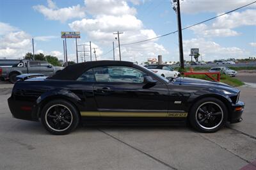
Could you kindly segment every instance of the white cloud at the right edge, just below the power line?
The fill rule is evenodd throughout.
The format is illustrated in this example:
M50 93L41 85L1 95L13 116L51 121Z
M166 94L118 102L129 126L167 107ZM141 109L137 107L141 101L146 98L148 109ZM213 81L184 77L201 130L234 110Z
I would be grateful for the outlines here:
M211 25L199 24L191 27L196 35L212 36L238 36L241 33L232 29L242 26L256 26L256 10L245 10L243 12L233 12L218 17Z

